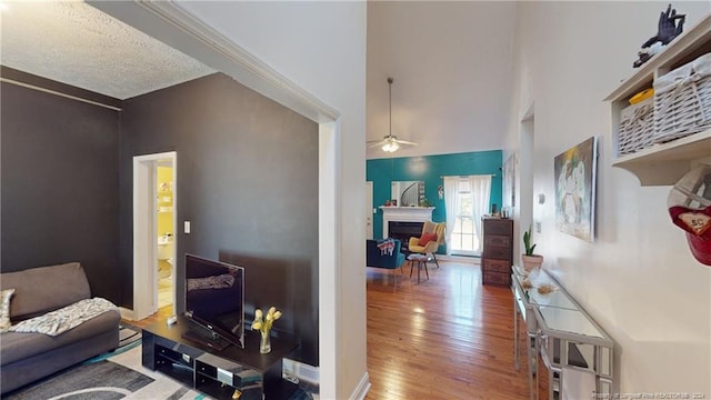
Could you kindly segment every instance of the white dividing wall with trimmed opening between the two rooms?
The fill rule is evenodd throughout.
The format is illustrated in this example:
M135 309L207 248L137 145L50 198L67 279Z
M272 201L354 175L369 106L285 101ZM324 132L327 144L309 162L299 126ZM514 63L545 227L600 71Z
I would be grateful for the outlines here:
M365 2L179 2L190 18L184 18L182 11L176 13L173 3L148 7L161 12L167 10L171 19L178 16L181 27L193 27L193 17L201 20L232 44L247 50L257 64L266 63L267 69L286 78L286 90L279 83L274 84L274 80L279 80L274 74L260 76L264 68L246 69L230 58L229 51L217 51L221 49L221 41L213 43L211 33L206 43L171 23L157 20L154 14L141 10L143 6L133 2L93 4L212 68L233 77L244 77L247 81L240 80L241 83L287 107L296 107L299 112L306 110L304 114L314 120L327 121L328 118L309 114L313 110L309 107L313 103L311 98L291 101L293 83L304 94L316 98L317 106L326 104L340 116L336 122L320 126L321 162L336 163L334 171L320 171L320 182L333 173L336 186L334 204L320 203L320 218L330 219L336 214L334 229L326 230L326 233L330 236L327 241L334 243L327 252L337 256L336 262L319 266L322 270L319 278L328 278L327 282L319 282L320 393L324 399L363 394L369 384L363 268L365 227L360 212L365 201ZM284 92L288 96L283 97ZM307 106L302 108L304 103ZM314 201L321 200L320 194L313 193ZM332 206L336 213L330 211ZM320 246L323 241L320 238ZM323 270L327 273L322 273ZM326 306L324 292L333 300ZM317 301L313 307L318 307Z

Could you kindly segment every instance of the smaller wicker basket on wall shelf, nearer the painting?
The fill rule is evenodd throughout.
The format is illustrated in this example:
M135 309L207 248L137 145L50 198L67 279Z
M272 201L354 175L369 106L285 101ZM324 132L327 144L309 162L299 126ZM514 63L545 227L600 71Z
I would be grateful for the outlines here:
M653 98L627 107L620 113L618 156L630 154L654 144Z

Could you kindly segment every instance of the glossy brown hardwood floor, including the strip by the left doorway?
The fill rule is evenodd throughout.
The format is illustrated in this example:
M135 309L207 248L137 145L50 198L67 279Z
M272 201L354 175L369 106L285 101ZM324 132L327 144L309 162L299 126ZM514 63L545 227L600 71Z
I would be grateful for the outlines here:
M479 266L440 261L430 279L417 283L397 271L367 269L367 400L528 399L528 368L513 367L513 299L509 288L481 284ZM170 307L141 321L146 327L171 313ZM523 350L524 337L519 346ZM543 382L547 377L541 376ZM541 399L547 399L541 386Z

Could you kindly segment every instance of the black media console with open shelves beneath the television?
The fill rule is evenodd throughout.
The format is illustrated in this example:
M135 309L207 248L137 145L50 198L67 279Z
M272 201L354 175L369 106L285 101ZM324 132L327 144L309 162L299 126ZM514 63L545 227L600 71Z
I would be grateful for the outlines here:
M271 339L271 352L259 352L259 333L244 332L244 349L230 346L216 350L209 343L190 340L193 322L178 316L143 328L142 363L216 399L283 400L297 386L282 379L282 359L291 357L297 344Z

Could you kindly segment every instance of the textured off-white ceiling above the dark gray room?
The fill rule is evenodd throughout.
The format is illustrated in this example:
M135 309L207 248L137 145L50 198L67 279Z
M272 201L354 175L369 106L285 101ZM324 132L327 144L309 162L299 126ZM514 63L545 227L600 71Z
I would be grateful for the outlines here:
M129 99L216 72L81 2L9 1L0 63Z

